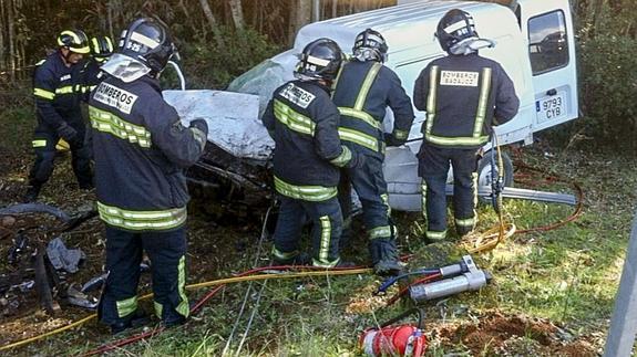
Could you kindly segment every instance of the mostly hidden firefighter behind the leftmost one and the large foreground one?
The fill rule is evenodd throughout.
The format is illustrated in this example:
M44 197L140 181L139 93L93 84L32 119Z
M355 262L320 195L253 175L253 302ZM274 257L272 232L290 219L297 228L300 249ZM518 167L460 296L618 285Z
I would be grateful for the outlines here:
M101 66L113 54L113 41L111 38L95 36L89 42L91 46L91 57L88 59L80 70L80 83L76 85L75 91L82 93L84 101L89 99L91 91L104 80L104 72Z

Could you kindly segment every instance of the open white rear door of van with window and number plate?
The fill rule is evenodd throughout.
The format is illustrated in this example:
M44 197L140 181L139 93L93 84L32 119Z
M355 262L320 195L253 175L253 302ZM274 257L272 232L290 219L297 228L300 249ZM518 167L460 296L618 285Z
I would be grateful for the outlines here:
M568 0L520 0L535 90L533 132L578 114L575 36Z

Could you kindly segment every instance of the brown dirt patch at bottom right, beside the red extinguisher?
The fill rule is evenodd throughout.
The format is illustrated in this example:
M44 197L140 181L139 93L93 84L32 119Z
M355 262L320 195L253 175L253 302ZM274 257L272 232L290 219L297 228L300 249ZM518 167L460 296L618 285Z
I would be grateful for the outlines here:
M431 325L431 342L458 348L464 346L475 356L596 356L585 337L565 340L563 332L548 321L523 315L486 313L472 323Z

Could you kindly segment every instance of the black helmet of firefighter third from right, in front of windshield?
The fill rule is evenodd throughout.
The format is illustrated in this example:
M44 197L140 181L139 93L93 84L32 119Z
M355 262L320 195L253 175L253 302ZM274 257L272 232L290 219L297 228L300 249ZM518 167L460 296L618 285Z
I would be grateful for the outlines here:
M301 52L300 61L295 69L295 76L305 81L333 81L342 57L342 51L332 40L315 40L308 43Z

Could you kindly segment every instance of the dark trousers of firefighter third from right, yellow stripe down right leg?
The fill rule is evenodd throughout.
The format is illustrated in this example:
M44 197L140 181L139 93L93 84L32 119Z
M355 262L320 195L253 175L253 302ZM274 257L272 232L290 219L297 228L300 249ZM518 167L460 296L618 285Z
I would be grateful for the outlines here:
M299 254L299 243L306 219L312 222L312 265L333 267L340 261L339 239L342 216L336 197L312 202L281 196L281 206L275 229L276 260L289 261Z

